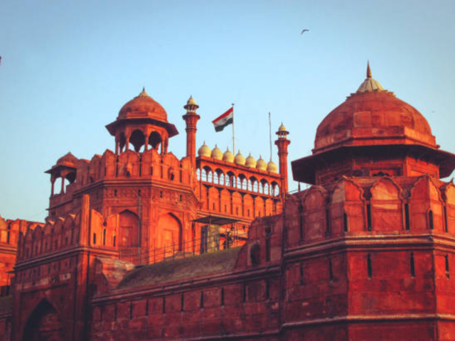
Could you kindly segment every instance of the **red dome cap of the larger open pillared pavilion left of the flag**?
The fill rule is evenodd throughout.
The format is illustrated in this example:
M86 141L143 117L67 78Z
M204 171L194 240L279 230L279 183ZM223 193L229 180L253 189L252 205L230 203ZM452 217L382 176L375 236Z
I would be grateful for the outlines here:
M129 118L151 118L159 121L168 121L168 115L166 110L161 107L161 104L151 98L145 89L134 97L131 101L125 104L120 109L118 119L129 119Z

